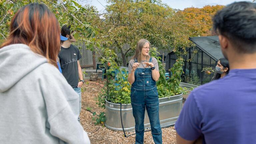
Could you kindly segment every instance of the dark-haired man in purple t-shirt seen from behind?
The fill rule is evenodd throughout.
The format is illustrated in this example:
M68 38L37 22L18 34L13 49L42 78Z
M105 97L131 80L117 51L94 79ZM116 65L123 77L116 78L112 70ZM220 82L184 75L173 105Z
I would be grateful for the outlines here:
M256 143L256 3L218 11L213 29L229 61L225 77L194 89L175 124L178 144Z

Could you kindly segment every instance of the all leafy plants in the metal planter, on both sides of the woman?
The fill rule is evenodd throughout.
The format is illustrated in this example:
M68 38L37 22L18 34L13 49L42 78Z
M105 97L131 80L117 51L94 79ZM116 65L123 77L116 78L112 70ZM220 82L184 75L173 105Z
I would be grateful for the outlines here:
M157 50L152 47L150 55L158 60L160 77L157 81L157 89L159 98L170 97L173 95L186 93L186 89L179 86L181 82L182 66L184 65L183 59L179 58L173 67L170 69L172 76L169 80L166 80L165 69L163 68L160 57L156 56ZM122 72L123 71L123 72ZM107 81L105 87L97 97L97 104L100 107L105 107L105 99L113 103L129 104L131 103L130 89L131 84L127 81L128 74L125 69L120 69L116 64L112 64L107 72Z

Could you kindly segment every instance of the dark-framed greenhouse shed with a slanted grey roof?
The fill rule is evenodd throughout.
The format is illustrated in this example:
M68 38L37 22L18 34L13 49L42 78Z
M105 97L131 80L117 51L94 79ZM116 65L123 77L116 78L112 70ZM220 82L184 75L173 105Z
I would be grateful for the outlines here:
M189 38L195 46L187 48L187 55L184 58L184 74L182 82L193 85L201 85L211 81L214 73L207 75L202 72L204 67L215 69L217 60L223 57L218 36L191 37ZM177 59L174 52L169 53L169 67Z

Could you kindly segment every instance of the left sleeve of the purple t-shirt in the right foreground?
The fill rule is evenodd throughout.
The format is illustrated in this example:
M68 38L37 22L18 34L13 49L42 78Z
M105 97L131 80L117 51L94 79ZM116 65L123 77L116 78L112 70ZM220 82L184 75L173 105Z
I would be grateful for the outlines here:
M176 132L185 140L196 140L201 135L202 115L192 92L175 123Z

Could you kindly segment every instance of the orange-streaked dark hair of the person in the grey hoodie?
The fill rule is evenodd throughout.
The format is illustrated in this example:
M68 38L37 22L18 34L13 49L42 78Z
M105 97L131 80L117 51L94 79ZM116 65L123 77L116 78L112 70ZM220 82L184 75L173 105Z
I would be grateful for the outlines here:
M57 66L60 50L60 26L55 15L44 4L31 3L23 6L14 15L10 34L1 48L22 43Z

